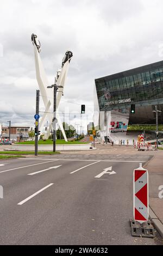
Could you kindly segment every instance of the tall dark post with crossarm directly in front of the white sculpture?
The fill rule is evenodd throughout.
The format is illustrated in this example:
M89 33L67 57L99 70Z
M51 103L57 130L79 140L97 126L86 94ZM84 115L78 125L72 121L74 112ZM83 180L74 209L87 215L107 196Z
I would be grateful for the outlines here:
M55 78L55 83L52 84L51 86L47 86L47 88L54 88L54 102L53 102L53 152L55 152L56 148L56 123L57 123L57 118L56 118L56 110L57 110L57 91L59 88L63 88L62 86L57 86L56 84L56 78Z

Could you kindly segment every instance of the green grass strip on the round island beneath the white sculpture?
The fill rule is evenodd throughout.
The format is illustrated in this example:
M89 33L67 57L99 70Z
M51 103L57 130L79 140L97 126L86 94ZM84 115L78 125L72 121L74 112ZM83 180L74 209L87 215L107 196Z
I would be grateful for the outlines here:
M79 142L79 141L68 141L66 142L64 139L57 139L56 140L56 144L85 144L86 142ZM35 142L34 141L26 141L26 142L17 142L15 144L24 144L24 145L34 145ZM53 144L52 139L47 139L46 141L43 141L42 139L40 139L39 141L39 145L51 145Z

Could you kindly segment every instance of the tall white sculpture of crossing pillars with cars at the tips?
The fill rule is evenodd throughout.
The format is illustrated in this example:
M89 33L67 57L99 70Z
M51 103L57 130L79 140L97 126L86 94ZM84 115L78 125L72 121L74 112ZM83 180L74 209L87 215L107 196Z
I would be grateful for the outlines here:
M40 130L42 129L43 124L45 123L45 119L48 119L50 125L48 128L47 134L45 135L46 138L48 138L49 133L52 130L52 120L53 120L53 114L47 113L47 112L49 112L50 107L53 106L52 91L47 89L47 86L49 85L49 83L48 83L48 80L47 80L47 77L45 74L45 70L43 68L42 61L41 61L40 54L39 54L41 51L40 41L38 40L37 35L34 35L34 34L32 34L31 39L32 39L33 46L34 46L37 83L39 84L40 93L42 96L43 104L45 106L45 113L43 114L43 116L41 118L41 121L39 124L39 129ZM66 134L64 131L64 127L62 126L59 114L58 114L58 107L59 107L61 96L63 95L63 92L64 92L65 81L66 81L67 72L68 72L68 68L69 68L69 64L70 64L70 60L71 60L72 56L73 56L73 54L71 51L67 51L65 53L65 56L62 60L61 69L58 70L57 77L56 77L57 86L63 87L63 88L61 88L62 89L61 92L59 91L57 93L56 117L57 117L58 124L62 131L65 141L67 141L67 137L66 137Z

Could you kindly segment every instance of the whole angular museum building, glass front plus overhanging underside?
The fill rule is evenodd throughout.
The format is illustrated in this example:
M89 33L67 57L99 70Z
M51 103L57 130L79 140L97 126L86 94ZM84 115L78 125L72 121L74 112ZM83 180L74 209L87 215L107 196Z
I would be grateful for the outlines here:
M156 105L163 123L163 61L97 78L95 84L99 111L111 113L111 131L125 131L128 124L155 124Z

